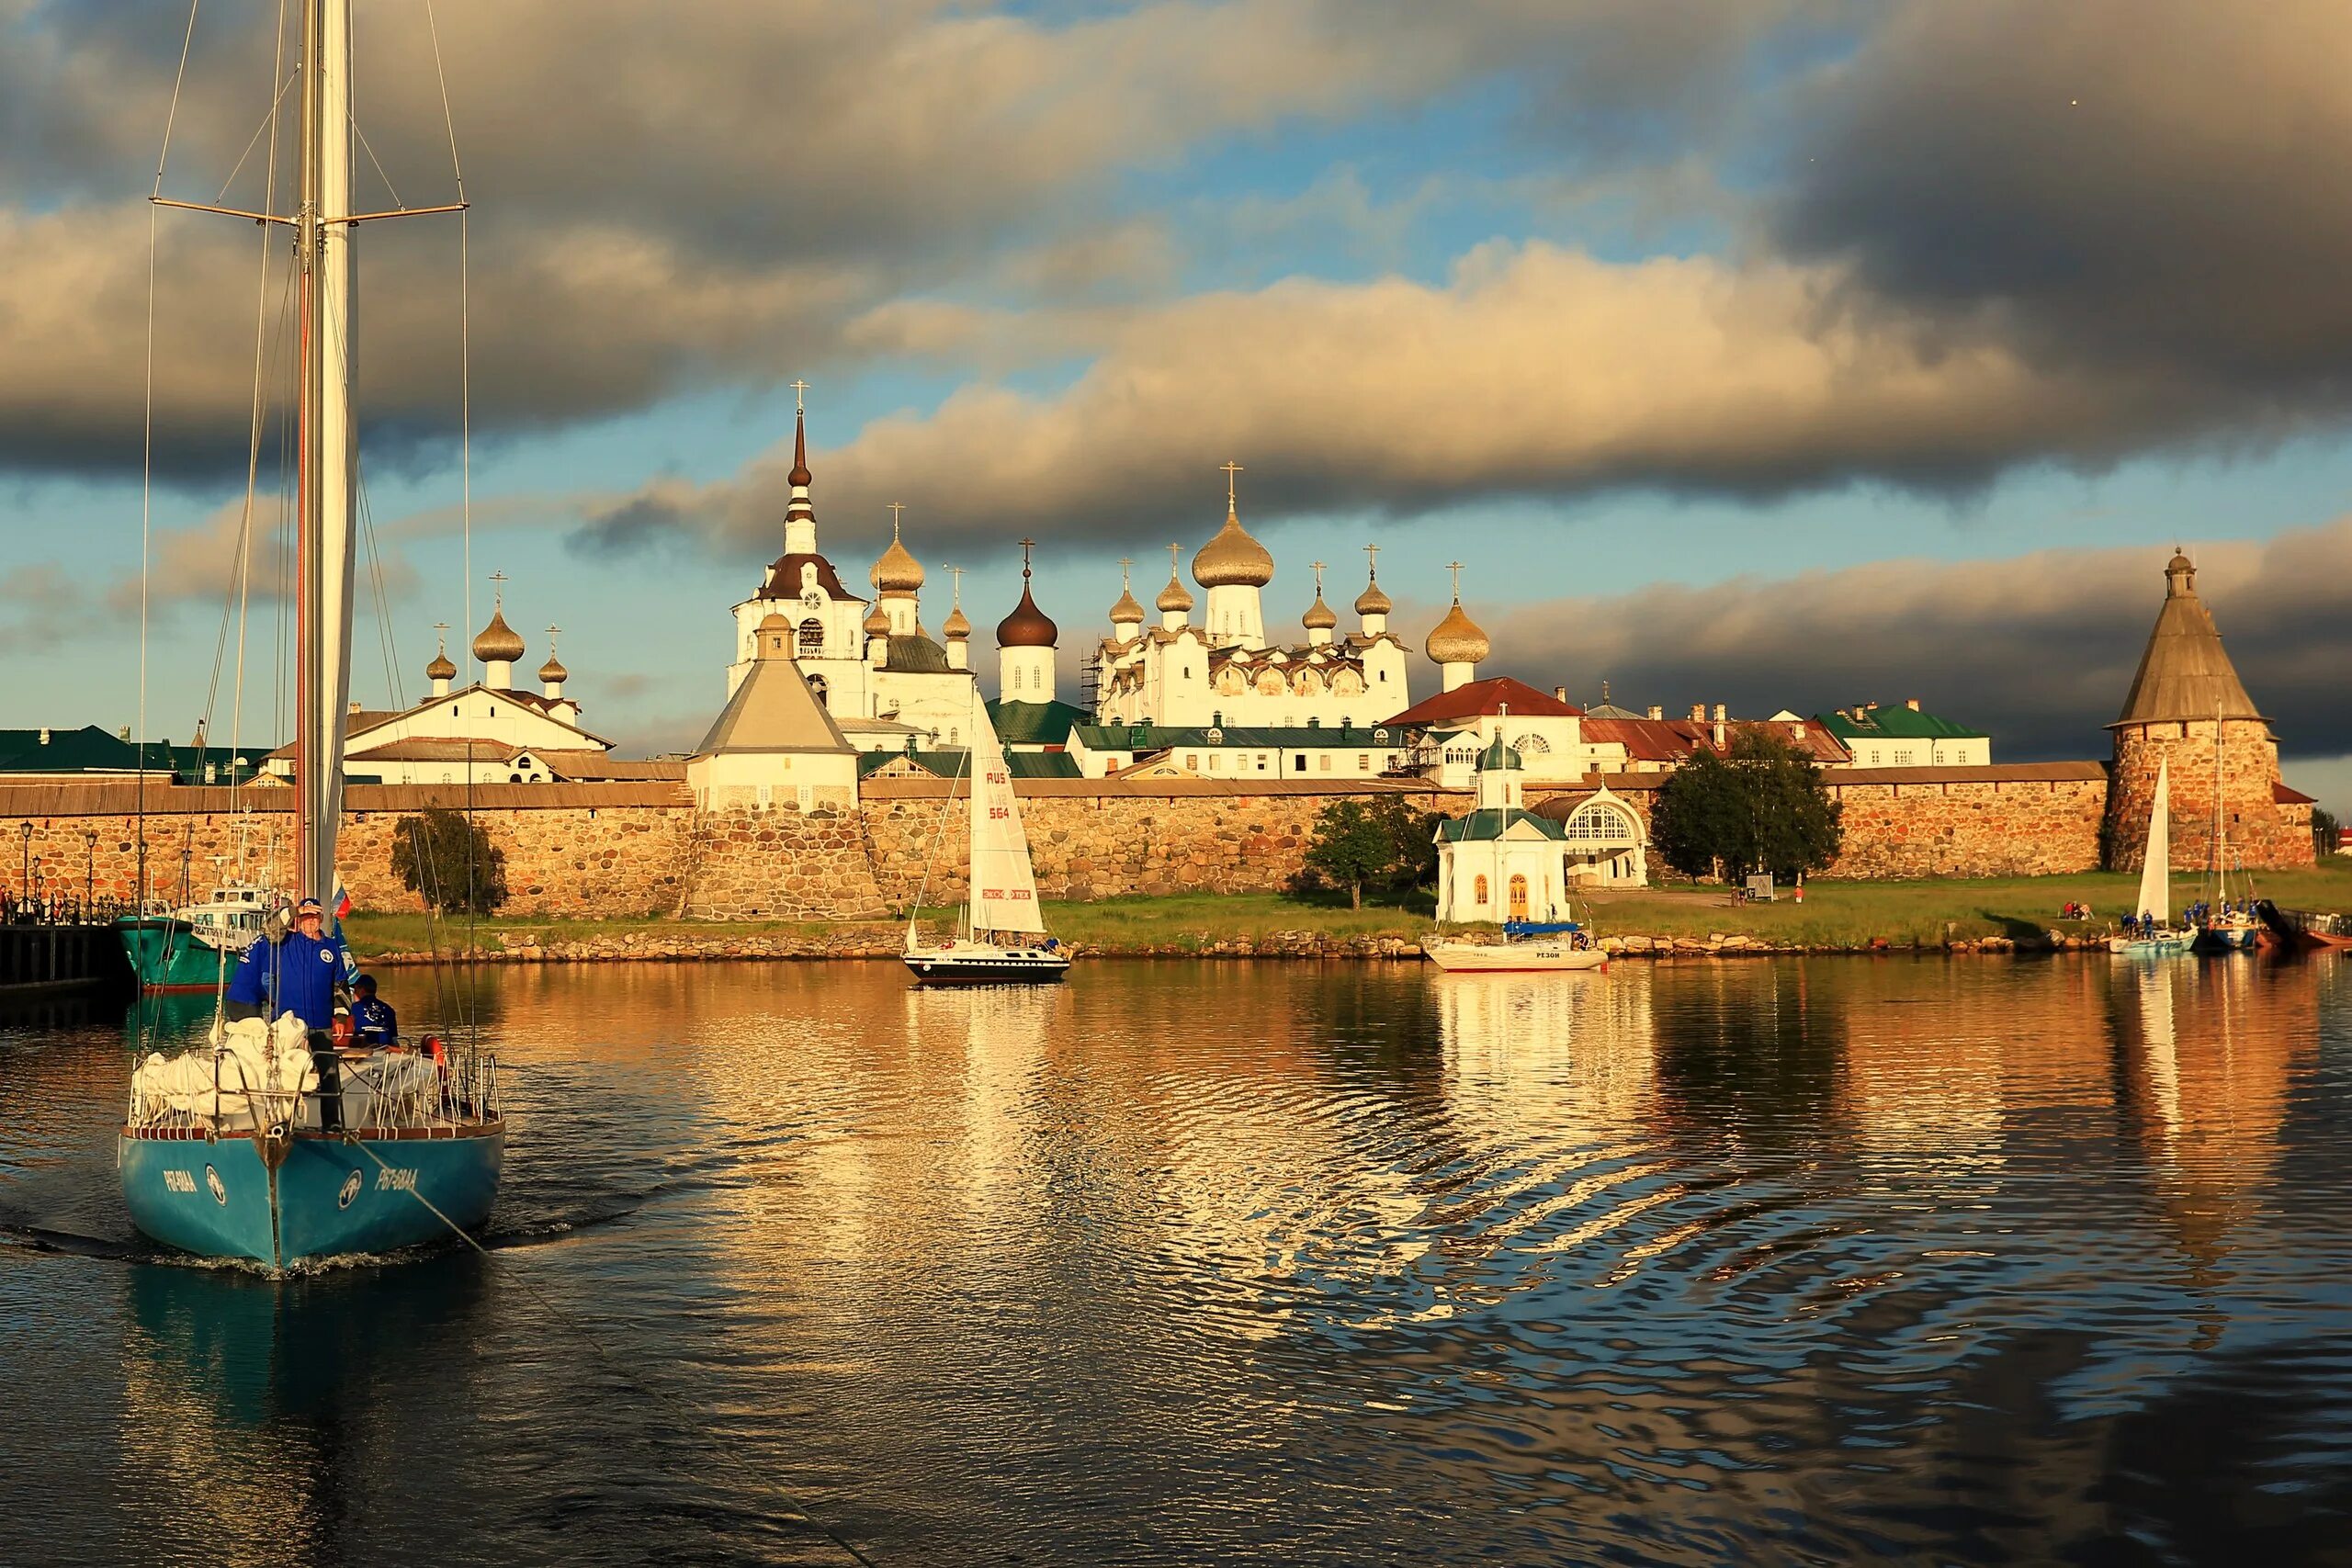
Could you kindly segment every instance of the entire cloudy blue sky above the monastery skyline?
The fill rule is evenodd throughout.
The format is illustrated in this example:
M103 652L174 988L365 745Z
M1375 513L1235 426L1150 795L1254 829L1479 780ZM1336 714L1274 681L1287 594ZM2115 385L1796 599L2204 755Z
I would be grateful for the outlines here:
M0 0L5 726L280 738L285 259L146 202L169 122L165 195L282 207L278 16ZM807 381L826 552L903 503L983 670L1016 541L1075 679L1232 461L1270 625L1371 543L1416 649L1461 562L1486 672L1581 701L2103 757L2185 545L2352 809L2336 0L355 16L360 200L470 202L360 233L367 705L499 571L590 729L691 745Z

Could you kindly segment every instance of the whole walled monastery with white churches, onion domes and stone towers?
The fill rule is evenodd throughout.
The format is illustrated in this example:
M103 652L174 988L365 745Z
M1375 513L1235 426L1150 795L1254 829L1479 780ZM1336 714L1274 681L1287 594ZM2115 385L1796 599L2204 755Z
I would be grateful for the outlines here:
M2249 867L2314 858L2312 802L2281 780L2270 719L2232 668L2185 555L2164 569L2154 630L2107 726L2112 759L2018 764L1997 762L1987 733L1915 701L1766 717L1696 703L1668 717L1613 703L1606 684L1599 703L1581 705L1566 686L1484 675L1494 646L1463 604L1458 567L1451 604L1418 649L1423 665L1390 628L1371 545L1348 621L1324 597L1329 569L1312 562L1315 595L1289 632L1265 614L1275 557L1242 524L1237 473L1228 463L1225 515L1192 552L1190 583L1183 545L1171 545L1167 585L1145 611L1122 564L1108 630L1082 642L1075 691L1061 689L1063 632L1035 599L1023 543L988 698L960 574L934 637L922 614L929 574L896 520L863 574L826 555L800 414L783 550L731 607L724 642L713 639L724 651L717 712L691 755L614 757L567 696L560 628L548 628L527 689L527 646L506 621L501 581L468 644L480 679L459 684L442 639L414 705L350 712L346 842L381 860L367 846L383 813L463 804L506 846L517 912L870 917L903 905L927 867L936 896L957 893L962 825L946 813L943 830L941 804L964 788L985 708L1049 898L1279 889L1331 799L1406 795L1449 818L1449 917L1541 919L1578 882L1646 882L1658 788L1748 729L1783 736L1825 769L1846 835L1832 877L2136 870L2166 766L2176 867L2204 863L2216 811ZM202 736L143 755L169 757L176 778L155 785L148 762L151 858L155 816L183 818L169 827L179 856L226 856L233 802L214 780L242 778L247 757ZM132 893L139 757L94 729L0 731L0 827L14 818L28 853L87 858L94 884ZM259 766L259 788L235 809L270 816L292 797L268 788L292 778L292 748ZM414 903L383 865L346 875L379 907Z

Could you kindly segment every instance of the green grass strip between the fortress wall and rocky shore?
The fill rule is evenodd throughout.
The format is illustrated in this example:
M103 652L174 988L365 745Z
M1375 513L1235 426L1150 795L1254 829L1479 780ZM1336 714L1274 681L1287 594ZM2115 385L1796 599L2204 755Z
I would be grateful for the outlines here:
M1602 933L1625 936L1757 936L1802 947L1940 945L1952 938L2027 936L2065 929L2058 905L2089 903L2096 919L2089 931L2105 931L2126 912L2138 893L2138 877L2119 872L2082 872L2077 877L1983 877L1926 882L1806 882L1804 903L1783 893L1776 903L1736 905L1719 886L1628 889L1578 893L1576 914ZM2260 872L2256 889L2288 907L2352 910L2352 860L2338 858L2310 872ZM2173 910L2197 898L2197 877L2173 877ZM936 929L953 926L955 905L927 907L922 919ZM1167 898L1110 898L1101 903L1051 903L1047 922L1054 933L1080 947L1105 952L1136 947L1207 947L1230 938L1268 938L1282 931L1312 931L1331 938L1397 936L1418 938L1430 924L1430 896L1369 896L1362 910L1350 910L1345 893L1174 893ZM614 938L647 933L654 938L727 938L727 936L818 936L849 929L854 922L675 922L663 917L630 919L546 919L501 914L477 922L482 945L499 936L532 933L541 943ZM440 922L442 950L463 943L466 922ZM419 952L430 945L423 914L355 912L348 922L350 947L360 959L390 950Z

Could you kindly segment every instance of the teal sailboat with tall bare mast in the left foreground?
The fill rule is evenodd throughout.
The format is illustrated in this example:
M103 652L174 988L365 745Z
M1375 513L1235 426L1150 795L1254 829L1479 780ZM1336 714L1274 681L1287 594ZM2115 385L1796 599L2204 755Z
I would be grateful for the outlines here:
M294 216L240 216L294 230L296 893L341 914L334 846L358 557L350 230L393 214L355 214L350 200L350 0L308 0L301 28L301 205ZM503 1159L492 1053L336 1048L334 1034L310 1032L294 1016L216 1018L205 1046L169 1060L148 1056L132 1072L115 1140L122 1201L141 1232L270 1272L480 1225Z

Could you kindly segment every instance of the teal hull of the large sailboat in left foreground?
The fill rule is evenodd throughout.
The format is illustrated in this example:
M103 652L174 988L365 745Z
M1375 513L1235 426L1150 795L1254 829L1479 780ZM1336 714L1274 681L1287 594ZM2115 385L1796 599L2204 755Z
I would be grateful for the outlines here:
M268 1147L249 1133L125 1131L115 1168L132 1222L183 1253L266 1269L447 1241L452 1225L489 1218L506 1124L296 1133L275 1166Z

